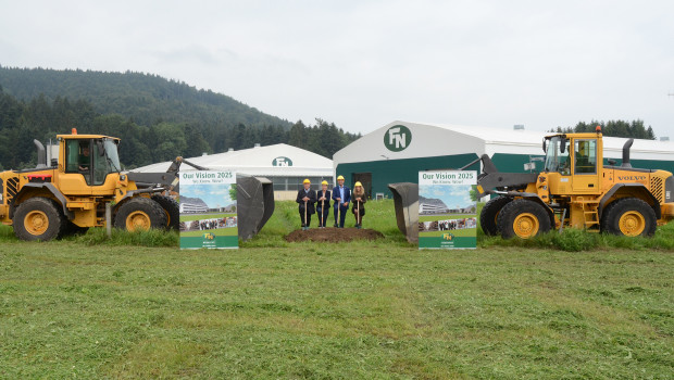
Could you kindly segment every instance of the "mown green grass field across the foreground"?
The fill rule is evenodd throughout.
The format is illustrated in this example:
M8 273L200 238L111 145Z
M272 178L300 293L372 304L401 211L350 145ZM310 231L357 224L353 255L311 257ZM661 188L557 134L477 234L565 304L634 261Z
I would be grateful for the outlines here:
M367 206L383 240L288 243L291 202L235 251L0 228L0 378L673 378L672 226L419 251Z

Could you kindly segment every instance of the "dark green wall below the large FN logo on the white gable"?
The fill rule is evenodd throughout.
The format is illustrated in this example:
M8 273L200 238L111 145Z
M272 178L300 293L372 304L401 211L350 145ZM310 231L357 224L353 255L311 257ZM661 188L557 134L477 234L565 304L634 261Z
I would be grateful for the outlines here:
M455 154L435 157L419 157L404 160L383 160L363 163L345 163L337 165L336 176L344 176L348 187L353 188L353 174L372 173L372 193L375 198L382 192L387 198L392 198L388 183L419 182L420 170L459 168L477 159L477 154ZM469 170L479 170L479 163L469 167Z

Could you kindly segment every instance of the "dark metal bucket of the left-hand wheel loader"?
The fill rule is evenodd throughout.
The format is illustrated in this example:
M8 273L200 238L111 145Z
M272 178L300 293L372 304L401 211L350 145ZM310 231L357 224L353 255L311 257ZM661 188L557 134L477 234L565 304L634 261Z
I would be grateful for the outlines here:
M237 175L236 203L239 239L254 237L274 214L274 187L264 177Z

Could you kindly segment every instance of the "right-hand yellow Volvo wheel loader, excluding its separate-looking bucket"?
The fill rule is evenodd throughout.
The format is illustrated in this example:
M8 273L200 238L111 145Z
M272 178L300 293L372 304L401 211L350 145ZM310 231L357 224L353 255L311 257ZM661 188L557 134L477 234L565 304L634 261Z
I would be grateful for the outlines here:
M564 227L621 236L649 237L674 218L672 173L639 169L629 163L634 139L623 147L623 162L603 165L601 129L559 134L544 139L541 173L500 173L487 155L478 195L497 195L483 208L487 235L532 238Z

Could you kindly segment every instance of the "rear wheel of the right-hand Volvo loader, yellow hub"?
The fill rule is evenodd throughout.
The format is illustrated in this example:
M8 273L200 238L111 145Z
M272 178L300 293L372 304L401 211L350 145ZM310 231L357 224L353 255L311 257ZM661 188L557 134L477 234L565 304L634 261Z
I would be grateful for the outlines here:
M638 198L619 199L601 216L601 230L617 236L651 237L657 226L653 207Z

